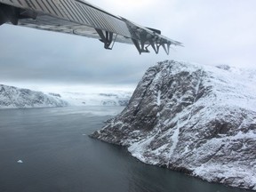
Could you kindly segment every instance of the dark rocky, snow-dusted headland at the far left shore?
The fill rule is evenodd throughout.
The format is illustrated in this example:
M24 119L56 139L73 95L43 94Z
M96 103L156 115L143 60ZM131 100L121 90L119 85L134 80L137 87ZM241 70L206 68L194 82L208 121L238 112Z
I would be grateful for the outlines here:
M46 108L65 107L68 102L60 95L44 94L28 89L0 84L0 108Z

